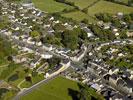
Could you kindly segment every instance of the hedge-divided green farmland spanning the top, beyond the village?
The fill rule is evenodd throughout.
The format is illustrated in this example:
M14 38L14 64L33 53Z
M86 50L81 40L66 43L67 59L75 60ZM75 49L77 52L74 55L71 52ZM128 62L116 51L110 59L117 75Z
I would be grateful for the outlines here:
M72 18L76 21L82 21L83 19L88 19L89 22L95 22L95 14L97 13L111 13L116 14L118 12L130 13L133 12L133 7L128 7L104 0L67 0L69 2L74 2L75 6L79 9L88 9L88 14L83 13L82 11L73 11L68 13L63 13L63 17ZM62 12L63 9L73 9L72 6L56 2L54 0L33 0L35 5L41 10L55 13ZM126 0L123 2L127 2Z

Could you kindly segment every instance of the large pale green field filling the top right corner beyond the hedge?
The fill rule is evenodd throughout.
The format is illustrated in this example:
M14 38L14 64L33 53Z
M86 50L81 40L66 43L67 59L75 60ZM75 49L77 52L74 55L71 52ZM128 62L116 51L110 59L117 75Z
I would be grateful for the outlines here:
M96 3L94 6L88 8L88 14L92 16L96 13L116 14L118 12L130 13L133 12L133 7L127 7L124 5L101 0L100 2Z

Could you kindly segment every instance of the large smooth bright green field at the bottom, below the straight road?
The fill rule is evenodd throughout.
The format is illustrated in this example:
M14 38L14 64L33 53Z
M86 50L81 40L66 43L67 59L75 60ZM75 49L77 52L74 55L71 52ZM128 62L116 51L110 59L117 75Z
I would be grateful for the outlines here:
M23 96L21 100L72 100L72 93L78 92L79 89L77 82L58 77ZM90 93L94 97L99 96L92 89L90 89Z

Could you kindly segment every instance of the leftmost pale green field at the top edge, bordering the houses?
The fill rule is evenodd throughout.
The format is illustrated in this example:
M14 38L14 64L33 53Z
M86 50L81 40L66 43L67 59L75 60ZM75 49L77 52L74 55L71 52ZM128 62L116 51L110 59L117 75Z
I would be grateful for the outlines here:
M54 13L54 12L60 12L63 9L72 9L72 6L65 5L63 3L55 2L54 0L32 0L36 7L39 9Z

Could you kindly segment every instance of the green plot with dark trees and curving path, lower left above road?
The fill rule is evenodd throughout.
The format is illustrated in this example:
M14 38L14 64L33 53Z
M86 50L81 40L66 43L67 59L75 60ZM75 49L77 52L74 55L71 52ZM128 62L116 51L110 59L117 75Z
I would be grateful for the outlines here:
M26 81L25 79L25 77L29 75L31 75L30 82ZM25 80L20 84L20 87L28 88L43 79L44 79L44 76L42 74L38 75L37 72L33 72L33 70L30 70L24 66L21 66L21 67L18 66L16 70L14 70L11 74L9 74L7 81L14 86L18 86L18 84L20 84L23 80Z

